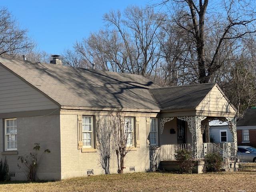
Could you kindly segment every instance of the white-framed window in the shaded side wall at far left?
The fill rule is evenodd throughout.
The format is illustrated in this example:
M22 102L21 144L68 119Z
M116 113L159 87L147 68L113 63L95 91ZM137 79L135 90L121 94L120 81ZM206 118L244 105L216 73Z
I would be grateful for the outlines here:
M4 120L5 150L17 150L17 119Z

